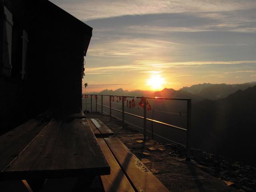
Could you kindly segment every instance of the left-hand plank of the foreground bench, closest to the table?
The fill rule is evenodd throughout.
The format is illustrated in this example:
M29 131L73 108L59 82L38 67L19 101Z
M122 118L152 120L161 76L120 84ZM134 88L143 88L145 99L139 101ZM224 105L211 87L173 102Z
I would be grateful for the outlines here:
M97 138L100 148L110 165L110 175L100 176L105 192L134 192L130 182L124 175L103 138Z

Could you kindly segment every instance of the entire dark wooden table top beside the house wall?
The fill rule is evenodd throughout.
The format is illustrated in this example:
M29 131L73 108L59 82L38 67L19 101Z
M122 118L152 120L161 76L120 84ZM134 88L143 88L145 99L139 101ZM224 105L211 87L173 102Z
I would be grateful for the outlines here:
M87 121L75 118L48 118L48 121L47 124L33 120L0 136L1 180L110 174L108 162Z

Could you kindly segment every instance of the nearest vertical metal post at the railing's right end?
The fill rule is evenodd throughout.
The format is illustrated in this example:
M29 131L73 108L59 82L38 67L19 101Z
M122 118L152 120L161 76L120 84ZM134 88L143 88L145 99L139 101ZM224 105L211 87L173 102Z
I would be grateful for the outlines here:
M187 100L187 144L186 160L190 160L190 137L191 137L191 99Z

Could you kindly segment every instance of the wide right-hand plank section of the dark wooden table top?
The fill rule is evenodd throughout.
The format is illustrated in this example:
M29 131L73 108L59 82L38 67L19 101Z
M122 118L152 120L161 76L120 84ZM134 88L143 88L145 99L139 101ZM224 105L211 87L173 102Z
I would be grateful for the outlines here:
M89 126L79 119L53 120L1 175L7 179L110 174Z

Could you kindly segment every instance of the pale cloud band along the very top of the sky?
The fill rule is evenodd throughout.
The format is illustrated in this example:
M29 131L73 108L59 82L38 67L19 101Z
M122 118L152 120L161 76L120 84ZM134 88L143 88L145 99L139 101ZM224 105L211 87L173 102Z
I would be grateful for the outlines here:
M256 8L254 0L51 0L80 20L123 15L182 12L224 12Z

